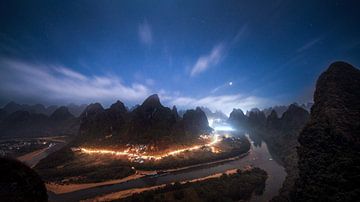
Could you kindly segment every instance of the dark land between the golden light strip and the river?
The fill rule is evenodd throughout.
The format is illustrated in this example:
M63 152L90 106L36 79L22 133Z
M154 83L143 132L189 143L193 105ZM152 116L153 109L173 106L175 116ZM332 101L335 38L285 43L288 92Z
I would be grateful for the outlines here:
M136 175L138 171L169 172L197 167L238 157L250 149L246 138L227 138L216 145L221 152L208 147L170 155L160 160L131 161L111 154L87 154L64 147L40 161L35 167L48 184L93 184Z

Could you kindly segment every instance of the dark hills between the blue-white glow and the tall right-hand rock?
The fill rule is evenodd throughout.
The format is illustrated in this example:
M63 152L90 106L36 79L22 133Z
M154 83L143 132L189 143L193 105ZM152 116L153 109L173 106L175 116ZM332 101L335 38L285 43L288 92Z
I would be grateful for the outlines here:
M284 110L278 116L278 110ZM288 107L274 107L268 116L266 110L251 110L245 115L240 109L230 114L229 122L238 130L247 132L259 146L264 140L269 150L284 165L287 172L281 196L274 201L289 201L288 195L293 191L295 180L298 177L296 148L299 146L297 138L302 128L309 120L309 112L297 104Z

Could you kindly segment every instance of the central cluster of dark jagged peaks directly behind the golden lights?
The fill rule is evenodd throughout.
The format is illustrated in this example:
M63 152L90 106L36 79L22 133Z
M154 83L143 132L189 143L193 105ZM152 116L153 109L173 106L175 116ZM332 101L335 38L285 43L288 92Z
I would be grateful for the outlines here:
M180 144L212 131L200 108L187 110L180 117L176 107L164 107L156 94L132 111L120 101L108 109L99 103L90 104L80 120L76 144Z

